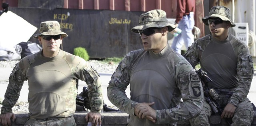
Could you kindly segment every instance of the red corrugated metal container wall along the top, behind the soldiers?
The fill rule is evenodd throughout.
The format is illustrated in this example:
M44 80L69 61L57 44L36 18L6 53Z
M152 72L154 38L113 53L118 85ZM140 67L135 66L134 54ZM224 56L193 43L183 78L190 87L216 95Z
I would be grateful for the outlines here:
M162 9L167 18L176 17L176 0L0 0L8 2L10 7L24 8L66 8L84 10L124 10L147 12ZM204 36L204 0L196 0L195 26L201 30L200 37Z

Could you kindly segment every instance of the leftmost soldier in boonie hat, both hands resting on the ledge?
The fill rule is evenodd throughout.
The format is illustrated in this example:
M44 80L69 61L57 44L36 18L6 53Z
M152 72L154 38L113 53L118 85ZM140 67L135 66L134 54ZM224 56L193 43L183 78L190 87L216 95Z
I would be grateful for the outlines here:
M33 35L42 51L26 56L12 70L4 95L0 123L11 126L15 120L12 107L18 100L24 81L28 81L29 118L25 126L76 126L78 79L87 83L92 109L85 119L93 126L101 124L103 108L100 76L79 56L60 50L64 37L58 21L44 21L39 34Z

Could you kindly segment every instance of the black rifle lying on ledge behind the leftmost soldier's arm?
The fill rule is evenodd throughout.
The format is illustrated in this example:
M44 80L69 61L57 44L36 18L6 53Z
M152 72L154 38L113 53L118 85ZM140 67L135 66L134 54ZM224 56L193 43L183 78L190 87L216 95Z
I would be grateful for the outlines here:
M83 91L80 94L76 95L76 105L80 105L83 107L83 111L85 109L92 109L90 106L90 100L88 96L89 90L87 87L83 87ZM118 109L119 110L119 109ZM116 109L111 109L107 106L106 103L103 101L103 111L104 112L111 112L111 111L118 111Z

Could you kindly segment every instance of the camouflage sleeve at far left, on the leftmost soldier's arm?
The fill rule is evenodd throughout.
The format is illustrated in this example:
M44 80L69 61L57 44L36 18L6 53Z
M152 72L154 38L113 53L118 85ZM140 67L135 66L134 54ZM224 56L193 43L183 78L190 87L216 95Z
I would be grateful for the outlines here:
M1 114L12 112L12 107L14 107L18 101L22 85L26 80L26 74L24 74L24 72L20 70L19 65L16 64L9 77L9 83L2 103Z

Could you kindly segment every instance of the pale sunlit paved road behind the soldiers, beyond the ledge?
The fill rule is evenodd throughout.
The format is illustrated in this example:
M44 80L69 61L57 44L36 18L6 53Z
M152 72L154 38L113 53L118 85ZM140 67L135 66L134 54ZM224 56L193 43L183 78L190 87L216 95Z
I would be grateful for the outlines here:
M7 85L8 85L8 78L9 75L12 71L12 68L0 68L0 98L4 98L4 93L6 91ZM254 71L255 72L255 71ZM112 76L112 73L99 73L100 78L102 81L102 89L103 89L103 97L104 101L108 106L112 106L113 104L108 100L107 97L107 87L108 87L108 82L110 80L110 77ZM84 86L87 86L84 81L79 81L79 86L78 86L78 93L82 92L82 88ZM126 89L126 95L130 97L130 87L128 86ZM252 84L251 88L248 94L248 98L256 105L256 76L253 77L252 79ZM20 97L18 101L27 101L28 97L28 82L25 81L24 85L22 87L22 90L20 92Z

